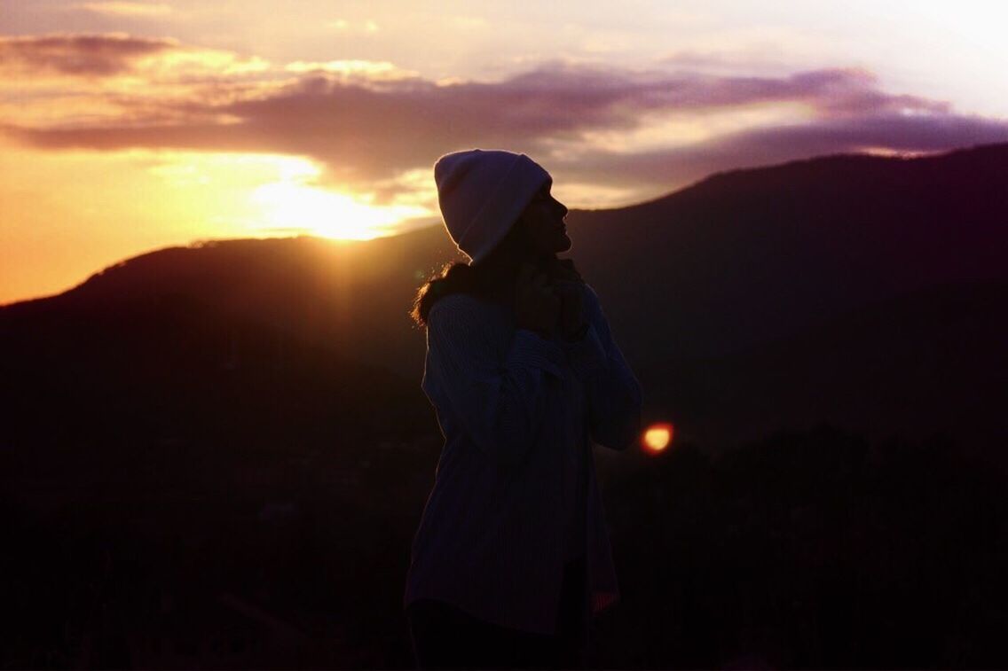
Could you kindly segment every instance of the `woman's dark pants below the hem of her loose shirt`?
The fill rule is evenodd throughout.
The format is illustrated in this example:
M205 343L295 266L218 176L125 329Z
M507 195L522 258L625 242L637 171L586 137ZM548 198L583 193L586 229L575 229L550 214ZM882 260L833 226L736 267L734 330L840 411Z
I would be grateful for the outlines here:
M501 627L429 598L406 610L418 669L576 669L587 666L585 559L563 567L553 636Z

